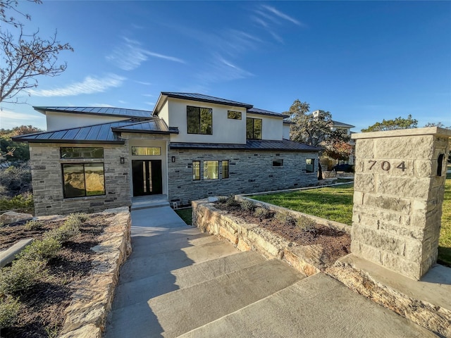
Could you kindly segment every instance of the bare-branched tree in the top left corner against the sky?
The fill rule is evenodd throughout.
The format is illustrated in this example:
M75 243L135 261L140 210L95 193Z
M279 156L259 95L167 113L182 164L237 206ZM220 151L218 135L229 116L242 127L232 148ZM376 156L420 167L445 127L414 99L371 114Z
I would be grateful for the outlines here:
M29 0L42 4L40 0ZM37 87L39 75L57 76L67 68L66 63L57 63L61 51L73 51L70 44L61 44L56 39L56 31L50 39L39 37L39 30L32 34L24 33L24 25L13 15L31 17L18 11L17 0L0 0L0 102L11 100L24 89ZM8 12L13 15L8 16ZM14 33L8 30L14 30Z

